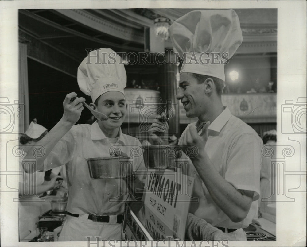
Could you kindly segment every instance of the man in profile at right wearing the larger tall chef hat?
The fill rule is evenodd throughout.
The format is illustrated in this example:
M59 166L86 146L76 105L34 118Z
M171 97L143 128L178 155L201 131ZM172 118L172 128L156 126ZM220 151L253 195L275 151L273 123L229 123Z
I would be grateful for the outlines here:
M177 19L169 34L174 52L185 59L176 98L187 117L198 118L179 140L198 148L189 175L195 177L199 202L191 212L230 239L246 240L242 228L257 213L262 141L221 100L225 58L243 39L239 18L234 10L195 10Z

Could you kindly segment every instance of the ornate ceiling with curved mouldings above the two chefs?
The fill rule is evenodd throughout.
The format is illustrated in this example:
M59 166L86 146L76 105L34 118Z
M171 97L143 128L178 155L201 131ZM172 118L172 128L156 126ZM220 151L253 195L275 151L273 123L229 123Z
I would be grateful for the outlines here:
M55 63L55 60L45 60L60 54L65 64L76 66L87 55L86 49L108 47L116 52L144 51L148 48L148 30L154 26L153 19L163 16L174 21L191 10L22 9L19 10L19 39L32 44L32 48L29 45L28 54L34 60L45 64ZM243 43L236 54L276 56L277 10L235 11L243 31ZM168 39L163 46L171 48L172 44ZM38 49L44 50L44 54ZM60 64L52 66L61 67ZM76 74L69 68L65 68L65 73Z

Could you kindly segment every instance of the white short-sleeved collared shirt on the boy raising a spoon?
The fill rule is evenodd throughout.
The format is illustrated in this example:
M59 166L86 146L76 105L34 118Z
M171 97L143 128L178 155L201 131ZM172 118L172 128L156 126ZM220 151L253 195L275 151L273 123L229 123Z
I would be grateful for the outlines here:
M119 129L119 145L122 152L133 158L133 170L146 169L141 143ZM56 144L44 161L44 171L66 164L68 184L68 204L66 211L72 214L117 215L124 212L124 202L129 197L126 183L122 179L91 179L85 159L110 157L113 146L99 128L92 125L74 125ZM134 157L130 151L137 148L140 156ZM113 201L110 201L111 198Z

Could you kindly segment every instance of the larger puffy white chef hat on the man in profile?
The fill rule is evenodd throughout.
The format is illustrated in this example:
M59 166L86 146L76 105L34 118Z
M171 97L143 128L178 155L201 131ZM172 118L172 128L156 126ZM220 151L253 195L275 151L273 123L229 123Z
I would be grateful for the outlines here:
M191 11L169 27L169 36L174 52L184 58L180 73L208 75L223 81L224 64L243 40L234 10Z

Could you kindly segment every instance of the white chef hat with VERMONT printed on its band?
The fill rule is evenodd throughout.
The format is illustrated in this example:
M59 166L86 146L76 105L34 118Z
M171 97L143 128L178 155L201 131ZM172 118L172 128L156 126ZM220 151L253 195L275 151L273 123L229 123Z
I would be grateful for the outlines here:
M115 51L101 48L91 51L78 68L78 85L92 101L109 91L124 94L127 76L124 64Z

